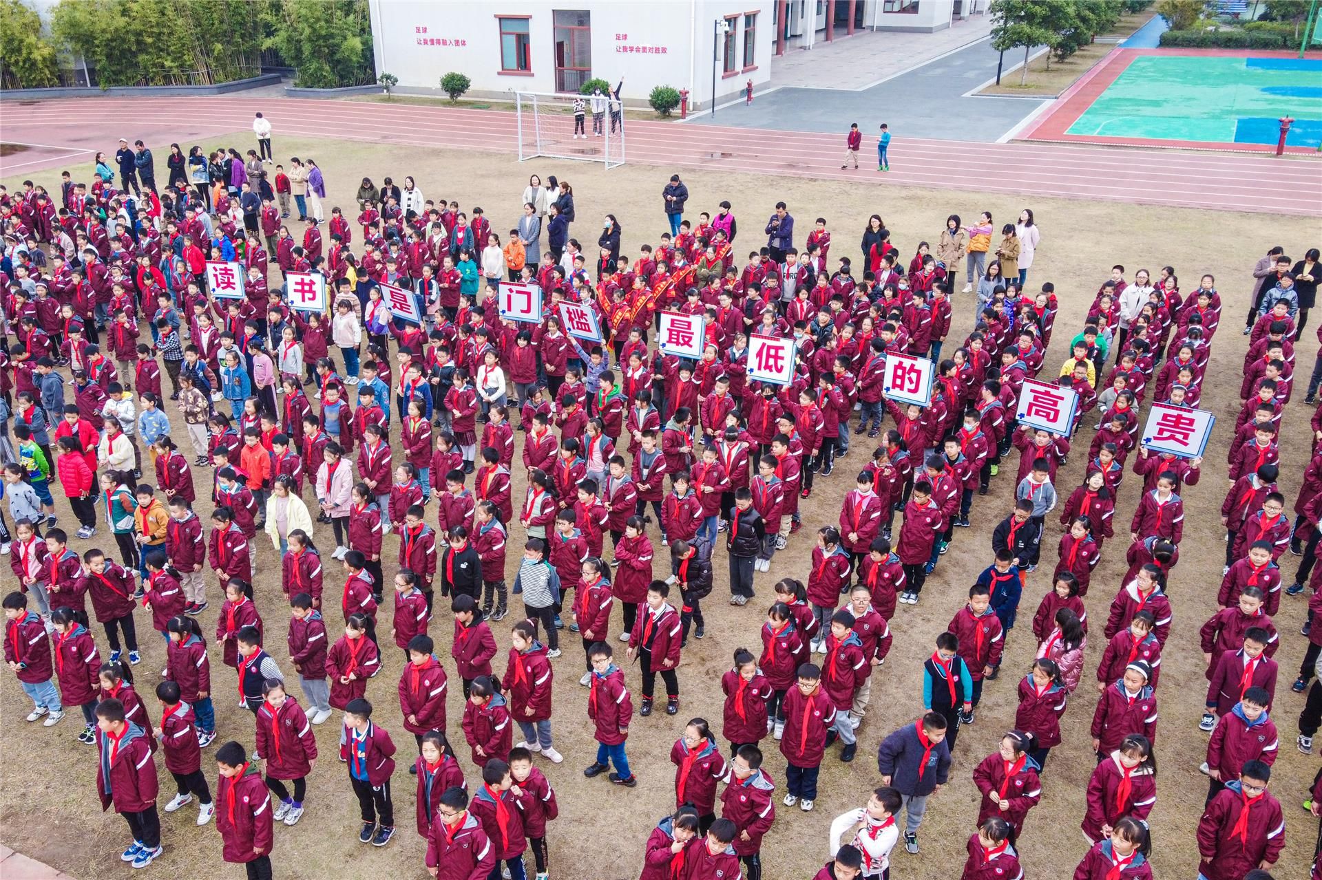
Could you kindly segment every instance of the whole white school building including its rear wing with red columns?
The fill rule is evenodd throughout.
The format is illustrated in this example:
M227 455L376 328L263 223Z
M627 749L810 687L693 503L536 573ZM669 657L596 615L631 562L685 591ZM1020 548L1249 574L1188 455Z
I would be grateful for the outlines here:
M592 78L645 106L654 86L710 107L760 90L775 57L859 30L935 32L986 0L370 0L377 73L398 90L439 94L451 71L475 98L576 92ZM564 8L578 7L578 8Z

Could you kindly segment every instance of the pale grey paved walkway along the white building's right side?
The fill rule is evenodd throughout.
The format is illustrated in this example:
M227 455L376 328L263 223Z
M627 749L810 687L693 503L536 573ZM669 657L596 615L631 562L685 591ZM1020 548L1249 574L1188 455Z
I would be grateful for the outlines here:
M853 37L836 32L833 42L812 49L787 49L771 59L772 87L862 90L937 55L982 40L992 30L990 16L956 21L936 33L855 30ZM756 102L755 102L756 103Z

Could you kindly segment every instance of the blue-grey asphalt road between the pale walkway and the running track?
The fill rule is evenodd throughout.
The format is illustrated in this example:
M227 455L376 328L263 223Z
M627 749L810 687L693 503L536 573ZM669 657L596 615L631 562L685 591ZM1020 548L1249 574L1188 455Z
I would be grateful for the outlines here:
M919 34L878 33L867 34L866 38L871 40L874 36L879 41L874 45L884 46L888 38ZM851 37L839 46L833 46L830 52L837 53L843 65L849 57L850 44L859 41L862 45L862 40L858 36ZM812 49L802 54L817 54L817 52L818 49ZM1007 55L1005 66L1009 69L1021 57ZM992 48L990 41L980 40L953 53L936 57L915 70L896 71L899 75L859 91L785 87L758 95L752 106L738 103L718 108L714 120L707 114L695 116L690 124L836 133L843 143L850 123L857 122L865 136L875 136L876 127L884 122L896 137L948 137L994 143L1036 112L1044 100L1043 98L965 98L964 92L995 77L998 61L999 53ZM912 63L911 61L906 66Z

